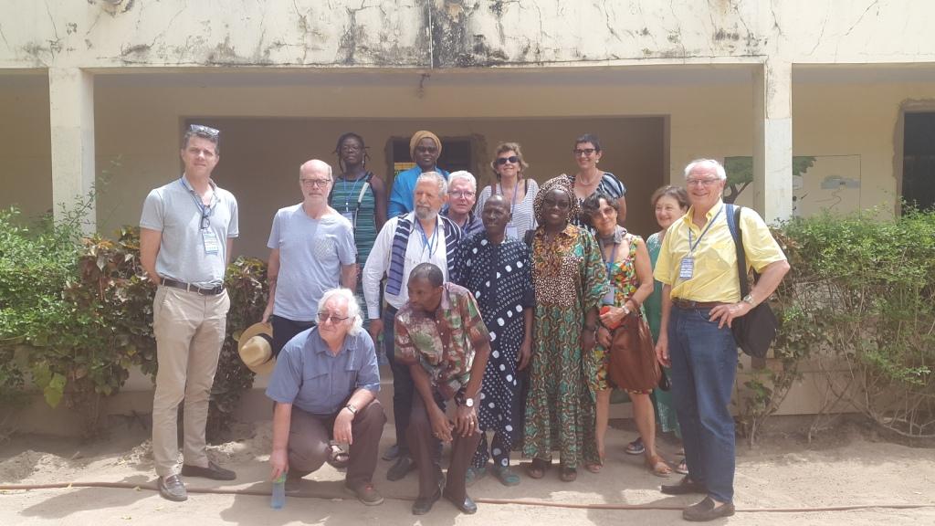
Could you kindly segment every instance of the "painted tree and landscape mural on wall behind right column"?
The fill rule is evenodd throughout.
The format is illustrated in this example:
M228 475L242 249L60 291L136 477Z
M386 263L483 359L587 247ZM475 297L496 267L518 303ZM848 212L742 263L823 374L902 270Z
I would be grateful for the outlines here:
M725 157L724 200L735 202L754 181L753 157ZM746 197L746 196L745 196ZM860 209L860 155L796 155L792 158L792 214Z

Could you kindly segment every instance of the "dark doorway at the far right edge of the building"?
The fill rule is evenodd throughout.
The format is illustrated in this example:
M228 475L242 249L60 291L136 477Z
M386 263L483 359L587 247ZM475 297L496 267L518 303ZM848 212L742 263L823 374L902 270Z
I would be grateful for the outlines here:
M906 113L902 198L919 210L935 207L935 112Z

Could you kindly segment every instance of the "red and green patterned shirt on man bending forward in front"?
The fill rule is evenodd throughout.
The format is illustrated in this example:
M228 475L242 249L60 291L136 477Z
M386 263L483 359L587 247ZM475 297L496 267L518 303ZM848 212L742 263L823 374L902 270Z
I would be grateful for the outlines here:
M396 313L396 356L422 365L432 385L450 399L468 384L474 352L490 343L490 333L467 288L441 286L441 303L433 315L415 311L409 302Z

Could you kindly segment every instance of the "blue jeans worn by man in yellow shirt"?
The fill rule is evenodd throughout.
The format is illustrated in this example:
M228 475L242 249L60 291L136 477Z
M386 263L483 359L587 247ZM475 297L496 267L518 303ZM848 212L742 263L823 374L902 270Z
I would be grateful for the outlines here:
M692 480L722 503L734 499L734 417L730 395L737 375L737 343L728 327L708 321L710 309L669 314L672 398L682 425Z

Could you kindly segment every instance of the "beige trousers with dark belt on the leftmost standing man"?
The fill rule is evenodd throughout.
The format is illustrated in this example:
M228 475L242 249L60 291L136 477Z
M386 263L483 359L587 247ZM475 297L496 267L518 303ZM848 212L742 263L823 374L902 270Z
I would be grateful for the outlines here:
M186 464L207 467L205 424L218 367L230 299L225 290L201 296L160 286L152 302L156 336L156 393L152 400L152 457L156 475L179 471L179 404L185 401L183 455Z

